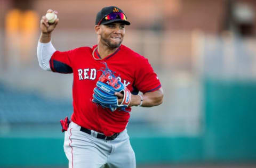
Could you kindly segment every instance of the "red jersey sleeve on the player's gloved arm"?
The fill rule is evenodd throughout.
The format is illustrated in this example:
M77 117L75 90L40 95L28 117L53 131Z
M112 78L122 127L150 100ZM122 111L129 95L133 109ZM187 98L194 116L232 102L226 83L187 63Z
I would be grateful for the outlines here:
M161 82L157 74L149 64L148 59L142 56L137 60L134 87L142 93L156 91L161 88Z

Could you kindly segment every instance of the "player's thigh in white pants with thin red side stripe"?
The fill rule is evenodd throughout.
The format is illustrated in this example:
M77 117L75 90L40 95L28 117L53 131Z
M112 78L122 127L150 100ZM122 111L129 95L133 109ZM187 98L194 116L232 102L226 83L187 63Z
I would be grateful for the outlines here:
M107 161L107 156L99 151L90 135L86 136L79 130L68 129L64 150L72 168L99 168Z

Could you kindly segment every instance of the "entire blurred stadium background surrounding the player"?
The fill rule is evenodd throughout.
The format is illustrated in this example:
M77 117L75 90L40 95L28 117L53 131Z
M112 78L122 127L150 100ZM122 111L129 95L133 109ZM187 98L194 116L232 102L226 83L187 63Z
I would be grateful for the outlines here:
M138 167L256 167L254 0L0 0L0 167L68 167L59 120L73 112L73 76L39 68L39 20L59 12L59 51L93 46L110 5L164 89L161 106L131 112Z

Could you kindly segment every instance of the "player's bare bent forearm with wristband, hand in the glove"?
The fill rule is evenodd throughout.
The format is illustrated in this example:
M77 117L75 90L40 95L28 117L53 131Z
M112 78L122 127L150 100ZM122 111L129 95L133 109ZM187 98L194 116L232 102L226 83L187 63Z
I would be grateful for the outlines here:
M118 97L118 103L121 103L123 100L123 94L121 93L115 93ZM142 96L142 107L153 107L158 106L163 103L164 98L164 91L161 88L159 88L156 91L147 92ZM131 102L129 106L138 106L141 103L141 97L139 95L133 95L131 94Z

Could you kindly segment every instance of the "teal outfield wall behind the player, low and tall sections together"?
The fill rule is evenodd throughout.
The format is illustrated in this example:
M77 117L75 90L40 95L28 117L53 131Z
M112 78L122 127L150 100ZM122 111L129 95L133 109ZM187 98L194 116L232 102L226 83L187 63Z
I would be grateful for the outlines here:
M203 82L202 132L194 137L152 136L150 131L138 136L128 130L138 164L256 161L256 82ZM63 134L56 134L2 134L0 167L67 166Z

